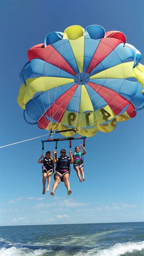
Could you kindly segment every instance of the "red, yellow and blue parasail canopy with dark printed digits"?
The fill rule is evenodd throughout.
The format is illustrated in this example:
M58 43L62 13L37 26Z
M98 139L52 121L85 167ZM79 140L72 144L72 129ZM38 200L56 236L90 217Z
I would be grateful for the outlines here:
M74 127L91 137L134 117L143 108L143 66L140 52L125 42L119 31L75 25L30 48L17 99L25 120L46 130Z

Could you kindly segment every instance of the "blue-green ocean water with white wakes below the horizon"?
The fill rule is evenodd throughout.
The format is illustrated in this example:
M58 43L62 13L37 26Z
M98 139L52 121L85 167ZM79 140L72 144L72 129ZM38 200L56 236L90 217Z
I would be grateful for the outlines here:
M0 227L0 255L144 255L144 223Z

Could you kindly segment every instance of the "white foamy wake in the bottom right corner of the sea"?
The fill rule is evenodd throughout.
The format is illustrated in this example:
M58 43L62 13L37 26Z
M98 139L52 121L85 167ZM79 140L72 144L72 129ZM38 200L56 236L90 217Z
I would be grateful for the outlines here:
M142 242L128 242L122 244L115 244L106 249L92 249L87 253L78 253L77 255L87 255L87 256L120 256L127 252L132 253L134 251L142 251L144 249L144 241Z

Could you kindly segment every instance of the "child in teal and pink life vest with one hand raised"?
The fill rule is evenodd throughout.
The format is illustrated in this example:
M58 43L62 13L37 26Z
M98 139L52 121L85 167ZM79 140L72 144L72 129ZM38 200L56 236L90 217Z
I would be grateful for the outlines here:
M80 147L84 150L83 153L80 152ZM77 177L79 178L79 181L82 182L82 180L84 181L84 169L83 169L83 159L82 156L85 155L87 153L87 151L85 150L85 148L83 147L83 145L81 144L80 147L75 147L75 153L73 154L73 158L74 158L74 170L76 170L77 172ZM81 174L81 175L80 175ZM81 179L82 176L82 179Z

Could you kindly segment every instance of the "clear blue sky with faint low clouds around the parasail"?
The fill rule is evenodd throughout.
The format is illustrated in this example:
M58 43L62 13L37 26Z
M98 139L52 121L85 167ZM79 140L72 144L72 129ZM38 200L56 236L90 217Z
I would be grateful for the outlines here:
M1 143L7 145L47 134L27 124L17 104L19 73L27 50L52 31L98 24L125 34L143 53L142 1L1 1ZM143 57L141 60L143 64ZM42 195L41 138L0 149L0 224L62 224L143 221L143 111L117 123L111 133L86 140L85 182L73 167L67 196L63 183ZM56 137L56 136L55 136ZM57 136L60 137L60 136ZM46 138L46 137L44 137ZM68 151L68 142L58 143ZM72 149L77 141L72 141ZM54 143L46 144L52 150ZM51 187L53 184L53 177Z

